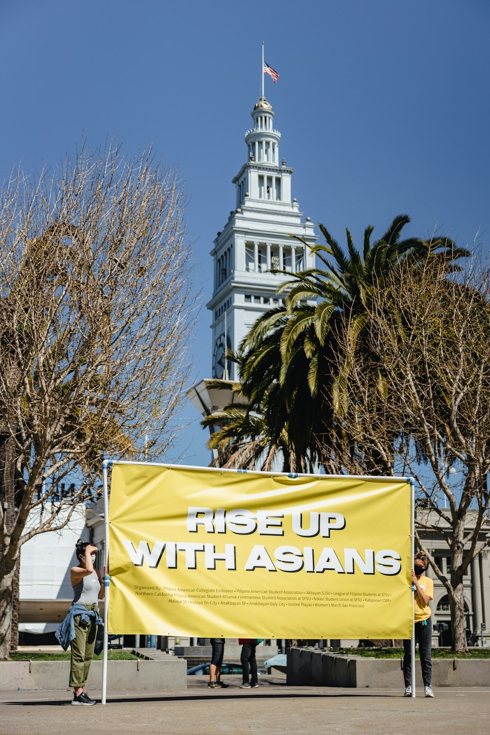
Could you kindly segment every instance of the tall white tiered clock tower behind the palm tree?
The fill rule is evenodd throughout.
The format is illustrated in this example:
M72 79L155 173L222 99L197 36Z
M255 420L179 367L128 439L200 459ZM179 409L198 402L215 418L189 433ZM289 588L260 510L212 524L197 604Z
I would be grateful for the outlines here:
M253 127L245 133L247 162L233 179L235 208L211 251L214 288L207 304L212 312L212 376L231 380L237 376L235 366L225 361L225 345L236 350L256 318L279 303L276 289L284 275L270 270L297 273L314 265L309 248L291 235L309 245L317 240L313 224L308 217L303 221L292 198L294 169L280 158L281 133L274 128L273 108L265 97L251 115Z

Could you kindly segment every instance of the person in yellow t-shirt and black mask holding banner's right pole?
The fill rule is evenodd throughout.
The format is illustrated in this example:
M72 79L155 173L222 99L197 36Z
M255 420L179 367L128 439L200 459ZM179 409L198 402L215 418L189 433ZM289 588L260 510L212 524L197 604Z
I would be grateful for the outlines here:
M419 644L420 665L424 681L425 696L433 697L432 691L432 623L430 621L429 600L434 596L434 583L425 576L429 560L423 551L415 554L414 568L411 570L412 589L414 590L415 645ZM411 697L411 641L404 640L403 678L405 696Z

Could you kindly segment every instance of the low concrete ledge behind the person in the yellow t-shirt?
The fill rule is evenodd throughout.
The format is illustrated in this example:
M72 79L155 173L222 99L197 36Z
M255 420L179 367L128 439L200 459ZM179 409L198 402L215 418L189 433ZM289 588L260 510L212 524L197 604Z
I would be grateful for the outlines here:
M490 659L432 659L434 686L490 686ZM423 686L416 661L415 682ZM346 656L313 648L290 648L287 684L291 686L403 686L401 659Z

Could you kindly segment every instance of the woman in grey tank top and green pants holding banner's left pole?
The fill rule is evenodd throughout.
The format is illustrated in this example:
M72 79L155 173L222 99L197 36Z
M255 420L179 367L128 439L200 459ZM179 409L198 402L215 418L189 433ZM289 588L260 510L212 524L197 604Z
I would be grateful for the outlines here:
M96 561L97 547L79 539L76 542L76 559L78 564L71 567L70 578L73 587L73 603L88 611L88 622L84 614L74 616L75 637L71 641L70 686L73 686L72 704L92 705L96 701L84 692L93 649L97 637L98 600L104 599L104 585L99 570L93 568ZM93 612L91 612L93 611ZM95 613L95 614L94 614Z

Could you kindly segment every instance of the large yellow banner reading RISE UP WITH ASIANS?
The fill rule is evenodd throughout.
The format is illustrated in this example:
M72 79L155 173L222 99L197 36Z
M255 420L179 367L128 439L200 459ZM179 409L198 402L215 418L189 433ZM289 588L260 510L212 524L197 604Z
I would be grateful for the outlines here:
M112 467L109 632L410 638L408 481Z

